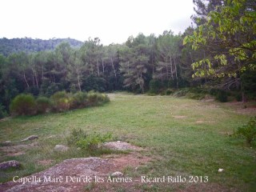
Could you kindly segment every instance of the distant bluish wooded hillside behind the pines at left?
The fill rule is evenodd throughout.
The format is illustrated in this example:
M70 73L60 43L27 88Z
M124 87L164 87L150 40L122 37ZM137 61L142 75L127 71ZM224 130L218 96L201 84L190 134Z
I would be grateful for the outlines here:
M49 40L42 40L39 38L0 38L0 54L8 56L14 52L24 51L37 52L40 50L54 50L61 42L69 42L70 46L79 47L83 42L73 38L51 38Z

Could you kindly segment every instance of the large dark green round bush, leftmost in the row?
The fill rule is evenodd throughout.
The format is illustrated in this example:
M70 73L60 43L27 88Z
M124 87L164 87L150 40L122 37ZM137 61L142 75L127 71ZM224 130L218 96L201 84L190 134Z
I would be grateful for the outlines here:
M31 94L18 94L10 103L10 113L32 115L36 113L36 102Z

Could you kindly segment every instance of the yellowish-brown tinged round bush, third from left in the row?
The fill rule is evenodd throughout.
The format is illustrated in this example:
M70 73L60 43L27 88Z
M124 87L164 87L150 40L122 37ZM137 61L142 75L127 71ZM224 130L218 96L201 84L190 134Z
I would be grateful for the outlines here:
M54 112L63 112L70 109L70 97L66 91L58 91L51 97Z

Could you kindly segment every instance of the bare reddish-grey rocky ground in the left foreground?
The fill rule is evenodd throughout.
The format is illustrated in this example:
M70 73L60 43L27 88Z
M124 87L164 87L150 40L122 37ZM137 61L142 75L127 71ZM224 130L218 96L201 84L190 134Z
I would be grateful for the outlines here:
M113 191L113 187L134 186L134 178L122 174L129 166L136 170L138 166L150 161L138 150L126 142L109 142L104 144L114 150L133 150L129 154L110 154L102 158L71 158L50 167L42 172L25 178L14 178L14 181L0 185L0 191ZM23 146L4 146L4 150L13 151L26 148ZM136 191L135 188L132 191ZM139 190L138 190L139 191Z

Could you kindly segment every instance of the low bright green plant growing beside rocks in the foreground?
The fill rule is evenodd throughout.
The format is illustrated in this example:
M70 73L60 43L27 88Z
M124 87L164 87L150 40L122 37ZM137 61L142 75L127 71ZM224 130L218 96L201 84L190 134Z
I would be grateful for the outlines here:
M70 145L81 147L84 150L98 150L100 144L112 139L112 134L86 134L84 130L72 130L70 137L67 138Z

